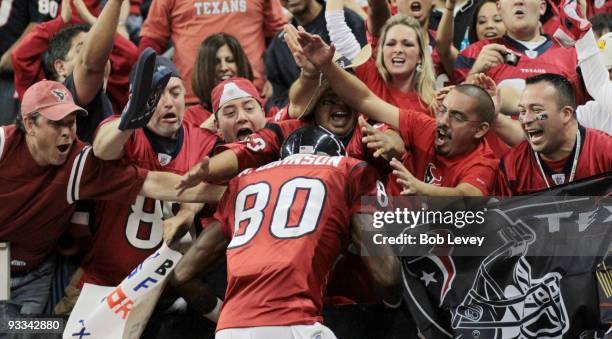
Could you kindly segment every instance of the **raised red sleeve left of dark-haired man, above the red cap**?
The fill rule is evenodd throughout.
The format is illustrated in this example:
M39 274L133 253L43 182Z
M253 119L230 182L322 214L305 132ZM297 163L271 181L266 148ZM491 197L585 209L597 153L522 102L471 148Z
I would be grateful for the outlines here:
M42 68L42 55L49 48L49 40L64 26L60 16L34 26L11 54L15 73L15 91L19 99L35 82L45 78Z

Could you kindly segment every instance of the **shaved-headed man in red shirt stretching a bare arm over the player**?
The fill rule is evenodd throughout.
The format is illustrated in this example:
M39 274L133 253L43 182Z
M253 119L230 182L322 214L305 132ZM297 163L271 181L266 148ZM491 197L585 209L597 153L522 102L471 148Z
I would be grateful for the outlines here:
M407 165L414 170L408 173L397 161L391 164L397 174L403 174L400 179L406 193L479 196L492 192L498 160L483 139L495 112L488 93L473 85L457 86L444 98L435 119L400 110L335 66L331 62L334 49L318 36L299 34L304 54L321 69L340 98L399 130L412 155Z

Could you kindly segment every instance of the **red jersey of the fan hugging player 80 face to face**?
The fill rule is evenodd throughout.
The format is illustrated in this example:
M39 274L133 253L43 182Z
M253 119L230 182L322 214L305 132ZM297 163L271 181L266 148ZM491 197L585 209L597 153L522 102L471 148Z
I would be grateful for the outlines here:
M219 146L218 153L231 149L238 157L238 166L241 170L255 168L269 162L278 160L280 147L285 138L296 129L310 124L305 120L284 120L268 122L265 128L253 133L248 140ZM375 126L380 130L386 128L383 124ZM361 132L357 125L351 135L340 138L346 147L346 154L360 160L370 160L373 153L361 142Z

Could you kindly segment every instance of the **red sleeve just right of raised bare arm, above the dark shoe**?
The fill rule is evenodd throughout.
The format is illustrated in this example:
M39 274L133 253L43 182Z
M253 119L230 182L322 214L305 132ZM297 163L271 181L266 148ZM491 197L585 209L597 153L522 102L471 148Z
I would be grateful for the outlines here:
M107 93L111 98L114 112L121 112L127 104L132 66L138 59L138 48L130 40L115 34L113 51L110 55L111 74L108 78Z

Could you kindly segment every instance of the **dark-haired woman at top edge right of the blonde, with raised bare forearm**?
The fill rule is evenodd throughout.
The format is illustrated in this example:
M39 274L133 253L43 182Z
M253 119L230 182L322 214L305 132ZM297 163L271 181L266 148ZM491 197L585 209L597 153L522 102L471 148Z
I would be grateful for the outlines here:
M446 0L446 12L442 15L436 35L436 43L444 70L453 74L455 60L459 51L452 45L453 11L456 0ZM506 34L506 26L502 22L497 9L496 0L478 1L468 25L470 44L484 39L495 39Z

